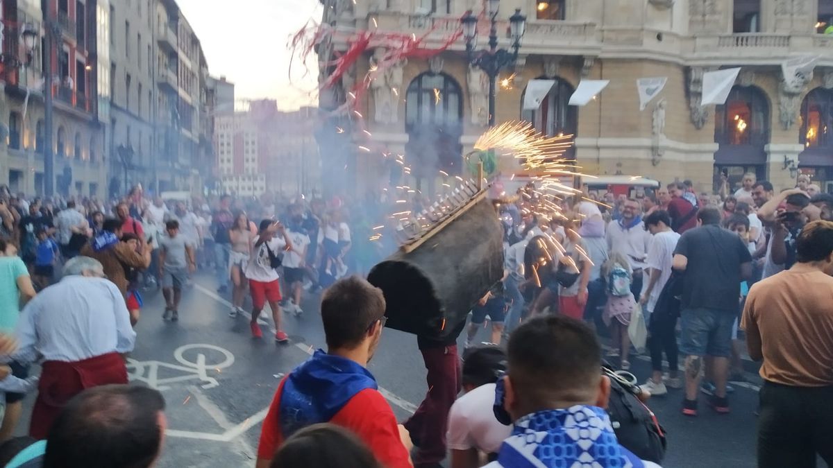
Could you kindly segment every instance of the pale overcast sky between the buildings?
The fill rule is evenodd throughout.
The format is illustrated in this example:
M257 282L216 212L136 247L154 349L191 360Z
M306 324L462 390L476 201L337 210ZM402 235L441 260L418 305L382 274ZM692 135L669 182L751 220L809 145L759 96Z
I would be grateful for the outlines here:
M311 55L307 77L303 77L305 67L293 62L290 80L287 42L310 18L321 21L318 0L177 3L202 43L208 70L234 82L237 99L272 97L284 110L317 102L316 56Z

